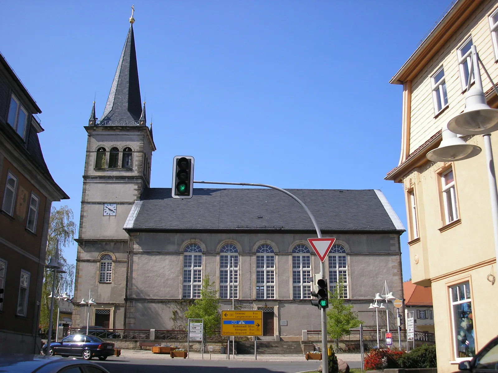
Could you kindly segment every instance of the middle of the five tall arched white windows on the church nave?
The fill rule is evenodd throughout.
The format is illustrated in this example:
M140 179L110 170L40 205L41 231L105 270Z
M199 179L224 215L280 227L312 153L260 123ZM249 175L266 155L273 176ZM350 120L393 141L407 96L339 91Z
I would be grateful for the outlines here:
M256 299L275 299L275 251L263 244L256 253Z

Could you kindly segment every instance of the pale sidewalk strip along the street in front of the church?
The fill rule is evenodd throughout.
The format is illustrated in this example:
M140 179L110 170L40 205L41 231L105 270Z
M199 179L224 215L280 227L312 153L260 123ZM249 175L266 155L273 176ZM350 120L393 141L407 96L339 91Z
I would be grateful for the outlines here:
M349 362L360 362L362 360L361 354L337 354L338 359ZM128 359L171 359L169 354L153 354L150 350L121 350L121 357ZM119 358L118 358L119 359ZM179 358L176 358L179 359ZM180 358L181 359L181 358ZM199 352L191 352L187 359L200 360L202 354ZM204 360L210 360L209 353L204 354ZM211 360L214 361L227 361L227 355L211 354ZM230 360L236 361L254 361L254 355L235 355L235 359L230 355ZM303 354L261 354L257 355L257 361L261 362L302 362L306 361Z

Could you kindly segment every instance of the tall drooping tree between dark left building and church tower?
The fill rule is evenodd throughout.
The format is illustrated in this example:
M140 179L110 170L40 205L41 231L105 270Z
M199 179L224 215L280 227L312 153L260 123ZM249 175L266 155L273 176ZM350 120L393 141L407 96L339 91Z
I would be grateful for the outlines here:
M45 263L50 261L50 257L55 257L57 242L59 243L59 262L63 264L65 274L56 274L55 288L59 293L67 291L70 293L73 290L74 281L74 264L68 264L64 257L63 248L69 246L76 235L76 224L73 221L74 214L67 205L61 206L58 209L52 206L50 210L50 223L48 228L47 252ZM54 271L45 270L43 277L43 286L41 292L41 307L40 307L40 326L43 330L48 329L50 318L50 293L52 292L52 283L54 280ZM54 302L54 316L57 317L57 299ZM54 327L56 326L54 318Z

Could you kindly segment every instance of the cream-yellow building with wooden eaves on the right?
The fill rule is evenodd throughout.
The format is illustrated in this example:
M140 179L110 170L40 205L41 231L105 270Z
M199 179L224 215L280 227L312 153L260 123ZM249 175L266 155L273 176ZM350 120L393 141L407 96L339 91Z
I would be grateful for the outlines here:
M386 180L403 183L411 276L431 286L438 372L454 372L498 335L498 283L490 187L478 156L431 162L441 128L465 108L470 48L498 83L498 1L458 0L390 81L403 86L401 157ZM486 99L498 97L481 69ZM472 83L471 83L472 84ZM498 155L498 132L491 136Z

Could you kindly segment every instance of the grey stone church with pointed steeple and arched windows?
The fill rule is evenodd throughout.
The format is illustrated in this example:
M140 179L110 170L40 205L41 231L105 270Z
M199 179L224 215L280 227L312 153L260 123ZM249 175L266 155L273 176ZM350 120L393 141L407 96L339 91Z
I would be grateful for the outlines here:
M170 186L150 187L156 143L141 103L133 22L104 113L96 117L94 102L85 126L73 326L88 317L105 328L183 330L209 275L220 309L262 310L268 338L297 341L319 330L308 282L320 272L307 241L316 231L296 201L263 188L194 188L191 199L176 199ZM342 278L344 298L375 329L369 306L384 281L403 298L399 218L376 189L289 191L323 236L336 238L325 258L329 288ZM78 304L89 297L95 304Z

